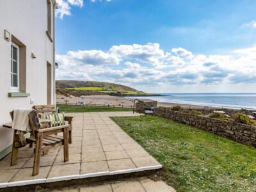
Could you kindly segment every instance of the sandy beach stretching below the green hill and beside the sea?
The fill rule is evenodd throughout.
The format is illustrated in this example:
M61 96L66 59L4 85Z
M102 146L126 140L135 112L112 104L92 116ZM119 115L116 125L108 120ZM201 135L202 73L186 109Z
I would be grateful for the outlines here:
M151 99L140 99L145 102L152 101ZM116 96L109 96L109 95L88 95L88 96L82 96L82 97L74 97L73 95L70 95L70 97L65 97L63 95L56 95L56 102L58 104L78 104L81 102L84 102L88 105L105 105L108 106L115 105L115 106L124 106L124 107L132 107L133 106L133 99L129 99L126 97L116 97ZM178 104L178 103L168 103L168 102L159 102L158 106L164 106L164 107L172 107L172 106L181 106L182 108L212 108L207 106L196 106L191 104Z

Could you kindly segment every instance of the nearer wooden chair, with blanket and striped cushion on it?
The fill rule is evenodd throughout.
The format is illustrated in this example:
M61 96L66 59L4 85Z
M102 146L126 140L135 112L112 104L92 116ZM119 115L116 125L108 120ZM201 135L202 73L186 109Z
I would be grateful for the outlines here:
M13 111L10 115L13 120ZM14 130L11 166L17 164L19 148L25 147L28 144L33 146L31 145L33 143L35 143L33 176L39 173L40 156L44 149L47 151L49 148L63 145L64 162L68 161L68 130L70 130L70 124L42 129L35 110L29 113L29 124L31 127L29 138L25 138L24 136L27 132ZM4 127L8 126L11 125L5 125ZM54 135L59 132L63 132L63 137Z

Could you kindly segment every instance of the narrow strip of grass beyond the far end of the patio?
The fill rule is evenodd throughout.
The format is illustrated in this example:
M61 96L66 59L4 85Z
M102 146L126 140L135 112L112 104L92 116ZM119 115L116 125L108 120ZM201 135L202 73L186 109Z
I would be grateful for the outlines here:
M132 111L132 108L111 108L111 107L100 107L100 106L57 105L57 107L60 108L60 112L67 112L67 113Z

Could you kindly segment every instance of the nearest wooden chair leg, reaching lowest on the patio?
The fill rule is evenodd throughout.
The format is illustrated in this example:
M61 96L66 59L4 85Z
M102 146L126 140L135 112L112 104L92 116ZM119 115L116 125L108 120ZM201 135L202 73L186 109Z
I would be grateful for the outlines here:
M36 136L36 147L35 147L35 154L34 154L34 166L33 166L33 176L39 173L39 166L40 166L40 156L42 150L42 140L43 136L38 134Z

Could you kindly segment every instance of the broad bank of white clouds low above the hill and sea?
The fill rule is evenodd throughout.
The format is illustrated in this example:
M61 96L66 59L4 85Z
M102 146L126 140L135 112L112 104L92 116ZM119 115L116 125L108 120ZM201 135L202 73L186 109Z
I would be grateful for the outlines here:
M57 79L111 81L130 86L256 83L256 47L228 55L193 54L182 47L164 52L159 44L114 45L108 51L57 55Z

